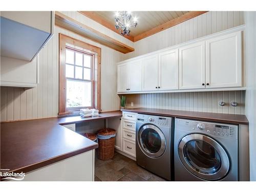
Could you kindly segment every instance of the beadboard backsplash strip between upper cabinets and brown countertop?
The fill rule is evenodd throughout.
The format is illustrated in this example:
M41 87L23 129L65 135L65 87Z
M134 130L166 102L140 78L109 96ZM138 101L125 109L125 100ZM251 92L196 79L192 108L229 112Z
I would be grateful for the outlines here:
M218 106L224 101L225 106ZM238 102L238 106L230 106L230 102ZM245 91L216 91L189 93L148 93L127 95L127 108L158 108L169 110L200 111L209 113L244 114Z

